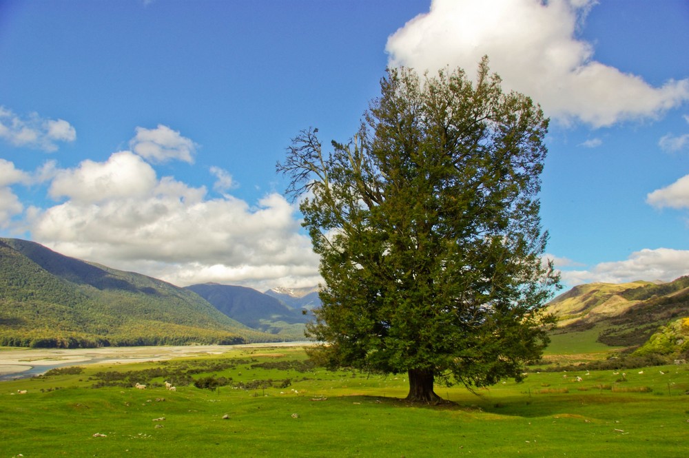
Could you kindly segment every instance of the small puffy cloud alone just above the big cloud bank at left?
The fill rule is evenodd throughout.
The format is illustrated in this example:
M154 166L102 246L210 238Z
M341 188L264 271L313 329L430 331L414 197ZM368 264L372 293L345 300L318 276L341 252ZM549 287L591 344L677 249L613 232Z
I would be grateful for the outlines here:
M181 160L192 164L197 145L176 130L158 124L155 129L136 127L136 136L130 141L130 147L133 152L152 163Z

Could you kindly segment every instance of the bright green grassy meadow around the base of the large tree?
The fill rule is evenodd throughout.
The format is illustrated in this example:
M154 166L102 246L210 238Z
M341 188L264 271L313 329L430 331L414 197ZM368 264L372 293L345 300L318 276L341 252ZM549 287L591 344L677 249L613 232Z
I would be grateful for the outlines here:
M0 458L689 455L689 366L548 362L520 384L436 386L442 406L401 401L404 375L327 371L300 347L61 368L0 382Z

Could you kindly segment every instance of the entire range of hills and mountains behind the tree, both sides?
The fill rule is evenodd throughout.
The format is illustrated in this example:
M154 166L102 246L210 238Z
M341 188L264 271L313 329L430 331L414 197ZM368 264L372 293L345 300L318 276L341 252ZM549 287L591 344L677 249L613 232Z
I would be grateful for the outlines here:
M304 340L305 324L318 306L316 288L264 293L216 283L181 288L63 256L35 242L0 238L0 346ZM615 347L666 342L664 336L689 333L689 321L683 320L689 317L689 277L582 284L557 296L547 311L557 318L553 333L593 335ZM683 343L683 337L675 340Z

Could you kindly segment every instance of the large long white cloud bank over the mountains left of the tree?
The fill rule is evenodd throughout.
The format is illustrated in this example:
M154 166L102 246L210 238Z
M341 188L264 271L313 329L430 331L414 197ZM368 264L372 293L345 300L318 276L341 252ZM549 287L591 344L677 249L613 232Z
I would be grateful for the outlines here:
M217 178L229 176L218 170ZM52 175L50 194L65 201L27 214L33 239L65 255L181 286L215 281L268 289L320 279L296 207L279 194L256 205L228 194L209 198L205 187L158 178L132 152Z

